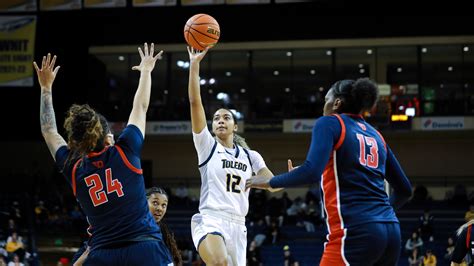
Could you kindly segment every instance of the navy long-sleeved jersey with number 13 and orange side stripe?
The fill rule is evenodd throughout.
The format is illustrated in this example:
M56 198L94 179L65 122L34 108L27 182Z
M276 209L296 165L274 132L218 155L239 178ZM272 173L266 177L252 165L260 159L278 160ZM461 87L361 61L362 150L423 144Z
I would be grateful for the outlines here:
M395 190L389 199L384 179ZM317 120L306 161L275 176L274 188L321 182L330 232L368 222L398 222L392 205L405 201L411 185L384 139L357 115ZM397 194L398 193L398 194Z

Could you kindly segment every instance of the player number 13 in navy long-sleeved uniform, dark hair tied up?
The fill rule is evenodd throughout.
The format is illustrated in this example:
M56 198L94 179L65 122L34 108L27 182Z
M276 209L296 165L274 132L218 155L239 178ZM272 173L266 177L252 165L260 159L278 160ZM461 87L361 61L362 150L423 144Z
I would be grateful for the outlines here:
M341 80L326 95L306 161L293 171L257 176L246 187L281 188L321 182L329 234L321 264L396 265L400 226L394 208L411 196L410 182L382 135L362 117L378 88L369 79ZM394 189L389 198L384 179Z

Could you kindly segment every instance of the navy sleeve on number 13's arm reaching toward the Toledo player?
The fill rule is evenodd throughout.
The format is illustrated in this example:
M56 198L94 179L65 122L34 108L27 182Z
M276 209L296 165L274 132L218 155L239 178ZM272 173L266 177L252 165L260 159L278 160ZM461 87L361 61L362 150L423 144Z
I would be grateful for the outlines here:
M273 177L270 186L282 188L319 182L340 135L341 124L337 117L320 117L313 127L306 161L291 172Z

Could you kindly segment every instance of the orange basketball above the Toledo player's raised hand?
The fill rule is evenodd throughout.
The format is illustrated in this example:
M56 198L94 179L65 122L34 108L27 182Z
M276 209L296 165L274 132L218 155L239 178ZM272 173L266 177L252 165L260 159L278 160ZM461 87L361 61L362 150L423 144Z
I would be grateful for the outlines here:
M219 23L207 14L192 16L184 26L184 39L190 46L200 51L216 45L220 35Z

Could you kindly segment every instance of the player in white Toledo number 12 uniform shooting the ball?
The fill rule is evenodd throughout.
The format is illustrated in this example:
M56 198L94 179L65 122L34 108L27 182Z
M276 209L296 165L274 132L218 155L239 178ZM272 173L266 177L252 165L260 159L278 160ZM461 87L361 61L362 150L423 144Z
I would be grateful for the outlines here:
M191 233L206 265L244 266L249 206L245 181L252 173L268 178L273 174L262 156L246 148L235 134L237 120L231 111L217 110L212 117L215 137L209 132L199 85L199 63L207 51L188 47L191 123L202 181L199 213L192 217Z

